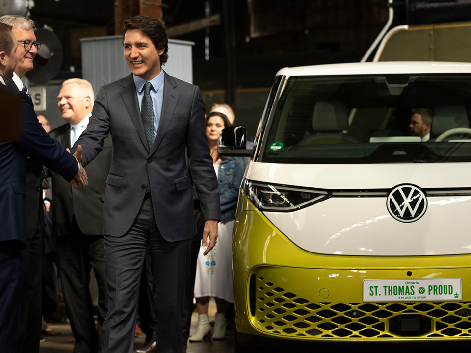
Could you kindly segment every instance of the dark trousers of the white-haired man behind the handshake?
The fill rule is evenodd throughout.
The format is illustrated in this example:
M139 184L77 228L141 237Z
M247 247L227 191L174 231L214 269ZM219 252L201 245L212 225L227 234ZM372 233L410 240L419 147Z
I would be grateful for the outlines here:
M103 338L107 312L105 246L101 235L86 235L72 219L72 233L58 239L58 263L65 307L75 338L74 352L96 353ZM90 296L90 271L98 283L98 330Z

